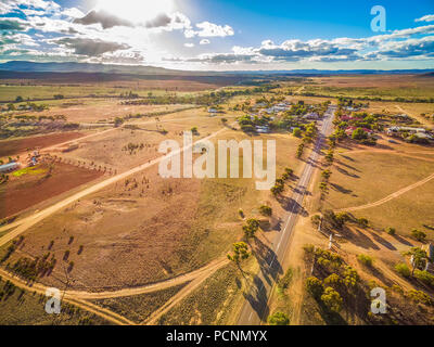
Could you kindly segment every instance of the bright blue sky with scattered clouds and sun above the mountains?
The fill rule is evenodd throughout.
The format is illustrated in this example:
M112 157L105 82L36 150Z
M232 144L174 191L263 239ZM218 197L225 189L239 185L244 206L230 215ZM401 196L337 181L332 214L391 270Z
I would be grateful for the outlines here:
M433 0L0 0L0 62L434 68Z

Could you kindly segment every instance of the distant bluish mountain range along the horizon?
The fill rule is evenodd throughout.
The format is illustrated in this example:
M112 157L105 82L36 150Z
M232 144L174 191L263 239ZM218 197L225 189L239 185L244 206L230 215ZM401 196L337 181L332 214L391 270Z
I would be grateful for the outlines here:
M155 66L139 65L106 65L90 63L35 63L26 61L11 61L0 64L0 70L21 73L90 73L90 74L120 74L120 75L166 75L166 76L221 76L221 75L248 75L248 76L315 76L315 75L397 75L397 74L424 74L433 76L434 69L290 69L290 70L228 70L228 72L189 72L167 69Z

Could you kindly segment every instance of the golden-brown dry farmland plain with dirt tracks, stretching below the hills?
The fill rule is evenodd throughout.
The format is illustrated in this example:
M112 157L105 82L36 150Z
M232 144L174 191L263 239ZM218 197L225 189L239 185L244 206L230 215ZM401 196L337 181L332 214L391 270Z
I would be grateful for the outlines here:
M260 98L269 102L267 107L285 103L286 112L292 113L297 107L303 112L327 110L328 102L332 105L340 102L335 99L339 95L431 97L430 83L423 78L366 77L365 82L363 79L299 78L283 80L264 92L254 91L253 87L226 87L224 90L240 94L218 99L215 104L152 104L152 98L166 98L173 91L154 86L146 89L144 83L135 87L132 82L77 87L59 83L34 90L31 86L1 87L8 98L22 94L50 99L37 102L48 110L3 112L1 119L5 125L20 129L73 124L76 129L41 128L35 130L37 136L1 141L3 162L11 156L22 167L8 174L8 180L3 178L0 184L0 241L4 240L0 262L8 264L22 280L31 278L38 285L67 288L71 298L91 305L88 309L98 319L106 319L108 314L112 323L235 324L246 299L258 300L251 292L252 283L258 281L257 273L265 274L270 283L288 281L284 287L279 282L280 286L272 288L267 314L279 310L293 324L321 323L318 312L312 313L315 318L309 316L318 308L305 293L304 281L311 265L305 260L304 247L310 243L324 247L329 242L314 227L315 214L348 209L353 218L367 218L369 226L363 229L348 222L344 229L333 231L341 236L335 244L345 261L360 271L363 281L380 280L384 285L396 281L406 290L420 288L397 280L393 269L396 262L406 261L403 253L416 244L412 229L423 230L430 242L434 236L429 228L434 224L430 218L433 182L423 181L434 174L432 145L408 143L404 139L391 142L384 131L378 131L375 145L347 137L336 144L333 163L328 166L324 155L329 142L323 141L318 147L316 139L305 137L309 125L318 129L323 120L306 120L303 114L291 114L285 119L285 112L264 116L265 106L259 112L253 107L260 104ZM214 97L208 95L212 100L217 99L217 91L221 92L216 86L199 87L193 83L176 92L203 97L215 90ZM401 93L404 89L406 92ZM138 92L150 104L129 104L128 99L119 98L122 91ZM309 92L321 95L305 94ZM54 93L66 99L52 100ZM212 106L218 112L210 113ZM361 110L384 114L381 123L384 127L392 125L388 115L408 113L412 126L427 130L431 119L422 114L433 111L430 103L401 101L369 101ZM244 131L240 117L252 121L257 121L255 117L265 119L270 129L266 133ZM291 126L282 126L288 119ZM294 127L299 127L301 136L291 133ZM161 144L176 141L183 157L183 132L190 130L194 132L193 141L207 138L215 149L219 140L276 141L276 175L283 182L283 192L258 191L256 178L248 177L162 177ZM26 158L35 149L39 149L42 163L26 167ZM316 152L318 159L312 162ZM240 153L242 175L244 152ZM195 153L193 158L197 157ZM218 172L217 152L215 164ZM297 206L292 196L299 191L306 167L311 164L312 181L306 187L305 201ZM291 175L285 176L288 169ZM331 170L331 176L328 193L321 197L319 184L326 169ZM422 183L411 189L418 182ZM401 190L405 191L393 196ZM276 272L268 273L264 264L272 259L276 240L288 227L293 206L297 206L295 215L299 221L288 243L292 252L279 261ZM264 208L269 208L270 214L264 213ZM243 227L252 219L258 221L258 230L254 237L247 237ZM387 227L396 229L396 236L385 234ZM233 254L238 242L246 243L250 257L235 265L227 256ZM374 258L381 275L375 278L365 271L356 258L359 253ZM31 265L30 261L42 269L48 261L53 266L49 271L35 273L30 268L23 269L23 264ZM348 312L352 313L350 309ZM80 318L82 321L77 316ZM74 318L65 319L65 323L78 323ZM95 324L100 323L98 319ZM360 324L367 320L356 314L348 322Z

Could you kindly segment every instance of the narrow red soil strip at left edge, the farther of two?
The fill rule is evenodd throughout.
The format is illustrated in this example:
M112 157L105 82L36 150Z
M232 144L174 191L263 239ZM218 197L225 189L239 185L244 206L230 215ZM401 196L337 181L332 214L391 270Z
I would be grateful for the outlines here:
M47 147L58 143L81 138L80 132L56 132L51 134L0 141L0 157L15 155L36 147Z

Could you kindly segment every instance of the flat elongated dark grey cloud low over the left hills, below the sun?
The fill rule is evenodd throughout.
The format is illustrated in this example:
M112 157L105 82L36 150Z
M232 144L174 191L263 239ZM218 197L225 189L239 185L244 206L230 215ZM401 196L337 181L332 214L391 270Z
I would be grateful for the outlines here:
M63 38L54 42L74 49L75 53L78 55L87 56L98 56L106 52L115 52L130 48L128 44L82 38Z

